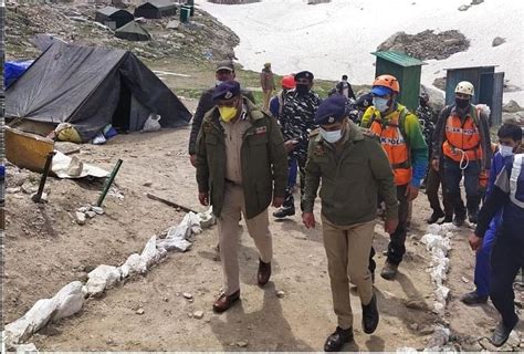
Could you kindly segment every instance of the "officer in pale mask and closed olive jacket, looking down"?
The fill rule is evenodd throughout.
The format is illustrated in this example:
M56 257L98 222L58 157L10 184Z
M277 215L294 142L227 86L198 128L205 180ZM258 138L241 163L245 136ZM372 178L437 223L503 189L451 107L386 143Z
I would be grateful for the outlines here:
M313 206L322 183L322 228L333 306L338 325L325 343L327 352L353 341L349 278L357 285L363 330L374 333L379 321L377 298L368 269L378 196L386 202L387 232L398 225L398 202L388 158L374 137L363 134L345 110L345 97L334 94L318 107L305 167L303 222L315 227Z

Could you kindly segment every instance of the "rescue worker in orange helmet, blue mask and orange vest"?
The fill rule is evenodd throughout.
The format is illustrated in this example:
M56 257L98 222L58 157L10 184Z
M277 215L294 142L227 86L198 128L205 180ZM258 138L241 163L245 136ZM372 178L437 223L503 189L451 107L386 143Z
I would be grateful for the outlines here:
M373 83L373 106L363 115L360 125L369 128L380 139L388 156L397 186L399 201L398 227L390 233L386 264L380 273L384 279L394 279L398 264L406 253L406 233L409 202L417 198L420 184L428 167L428 145L419 119L397 102L400 93L398 80L380 75ZM374 251L371 251L373 257ZM370 262L370 269L374 262Z

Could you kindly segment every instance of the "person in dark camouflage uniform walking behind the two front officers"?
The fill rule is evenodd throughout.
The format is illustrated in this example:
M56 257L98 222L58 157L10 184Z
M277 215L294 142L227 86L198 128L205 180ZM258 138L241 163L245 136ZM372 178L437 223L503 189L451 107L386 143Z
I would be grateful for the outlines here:
M307 142L310 133L317 127L315 113L321 104L321 98L312 90L313 74L301 71L295 75L295 90L291 91L282 108L279 122L282 126L284 145L289 152L289 163L295 158L298 165L301 179L301 196L304 195L304 167L307 159ZM283 207L275 211L275 218L285 218L295 215L293 188L287 187Z

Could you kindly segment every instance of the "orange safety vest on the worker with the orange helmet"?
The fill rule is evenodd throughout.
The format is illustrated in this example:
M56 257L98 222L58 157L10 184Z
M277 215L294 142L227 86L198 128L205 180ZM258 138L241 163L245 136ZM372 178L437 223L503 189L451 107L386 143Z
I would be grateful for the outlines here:
M384 123L379 117L375 117L369 129L380 138L380 144L391 164L395 184L402 186L411 181L411 156L404 128L408 111L402 108L400 112L394 112L392 115Z

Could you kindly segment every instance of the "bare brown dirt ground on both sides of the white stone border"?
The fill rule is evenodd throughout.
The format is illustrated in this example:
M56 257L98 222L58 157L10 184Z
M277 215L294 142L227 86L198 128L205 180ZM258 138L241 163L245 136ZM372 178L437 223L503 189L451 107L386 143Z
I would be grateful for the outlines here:
M190 105L195 105L191 102ZM32 304L52 296L70 281L85 279L97 264L122 264L140 251L149 237L178 223L182 214L146 198L146 192L182 201L201 210L196 198L195 170L186 147L189 129L129 134L104 146L81 146L81 158L111 169L117 158L124 164L117 177L124 199L109 196L106 215L75 225L76 208L96 200L99 185L51 179L49 204L35 206L30 195L8 194L6 248L6 319L11 322ZM27 173L9 175L9 187L24 180L33 188L38 178ZM18 179L17 179L18 178ZM17 210L17 212L15 212ZM23 210L23 212L20 212ZM428 202L421 195L415 205L405 262L397 281L377 277L381 322L377 332L360 329L360 305L353 293L356 342L349 351L423 348L436 321L433 285L427 268L430 256L418 239L425 233ZM376 227L379 267L387 238ZM43 351L318 351L334 330L326 257L321 229L306 230L298 216L271 223L274 242L272 281L256 287L256 251L245 231L240 248L242 301L224 314L213 314L211 304L221 287L220 262L213 260L216 230L197 236L189 252L170 253L146 277L112 289L102 299L90 300L77 315L53 324L31 341ZM467 348L469 342L489 335L495 311L491 305L468 309L457 298L472 285L473 256L464 229L455 236L451 252L452 300L448 319ZM462 277L470 280L464 283ZM276 291L285 292L284 298ZM193 295L188 301L181 293ZM407 301L418 310L407 308ZM137 310L144 313L138 314ZM203 311L203 319L191 317ZM470 337L471 336L471 337ZM244 343L242 343L244 342ZM243 345L247 344L247 347ZM470 347L474 348L474 344Z

